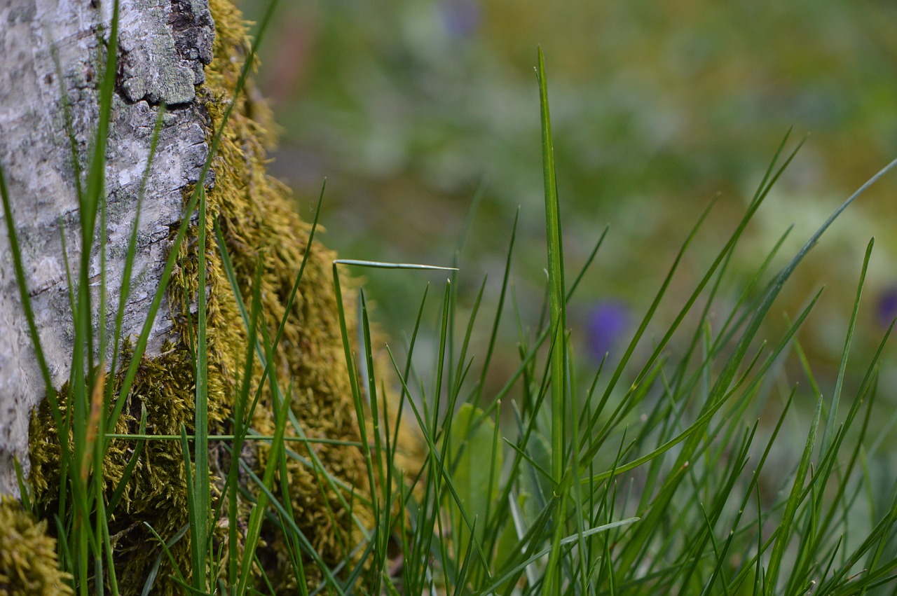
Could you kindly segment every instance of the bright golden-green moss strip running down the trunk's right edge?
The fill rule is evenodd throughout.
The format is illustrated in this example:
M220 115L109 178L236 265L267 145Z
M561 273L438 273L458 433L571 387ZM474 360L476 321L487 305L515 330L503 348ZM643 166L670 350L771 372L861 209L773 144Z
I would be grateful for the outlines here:
M241 17L231 4L224 0L213 0L210 4L216 26L216 61L206 73L205 100L214 127L220 122L225 102L232 97L239 78L240 58L248 50L248 39ZM308 249L309 226L293 211L287 189L266 175L264 143L271 138L265 122L267 110L264 104L251 100L251 95L241 94L222 136L214 164L215 187L209 194L209 211L214 214L212 217L218 217L244 298L249 298L260 261L262 312L273 337ZM311 250L275 357L277 376L282 386L292 382L292 410L308 436L358 441L358 423L332 287L331 262L335 255L318 244ZM231 291L220 268L221 264L215 260L210 267L210 287L213 294L222 298L217 303L222 314L229 313L231 320L237 320L239 315L231 304ZM346 307L350 309L349 320L353 320L353 305ZM221 333L220 361L227 375L228 371L238 369L236 365L245 351L245 339L242 329L233 326L222 328ZM274 433L269 399L269 394L263 393L264 405L257 409L252 420L254 428L263 434ZM303 454L303 449L297 451ZM316 454L330 474L354 486L356 503L360 498L370 498L364 457L357 448L318 445ZM259 446L257 459L259 468L264 469L265 446ZM361 540L361 532L354 527L349 514L342 511L335 495L318 486L316 475L300 462L290 460L287 481L300 529L328 565L344 560L347 553L336 534L343 535L343 543L350 545L349 548ZM333 516L328 509L334 512ZM370 521L370 512L362 507L356 508L354 514L362 521ZM273 528L266 531L265 539L260 557L266 561L283 559ZM278 582L275 587L281 591L289 589L291 572L276 568L271 572L271 579ZM309 573L309 577L314 580L318 574Z

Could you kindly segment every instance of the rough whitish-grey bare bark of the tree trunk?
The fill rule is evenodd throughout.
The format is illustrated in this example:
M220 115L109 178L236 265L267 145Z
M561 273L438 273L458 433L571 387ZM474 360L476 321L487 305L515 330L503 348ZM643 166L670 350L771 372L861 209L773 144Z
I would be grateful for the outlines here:
M0 4L0 164L41 344L57 386L69 375L74 335L60 221L73 282L80 258L78 201L62 98L65 93L73 102L75 136L86 167L99 113L98 49L108 36L110 4ZM140 332L158 287L170 229L181 219L182 189L196 182L207 155L206 119L196 107L195 85L203 82L203 65L211 60L214 29L207 0L123 0L119 26L119 76L106 171L107 333L118 306L122 264L158 106L162 101L170 105L139 222L134 287L123 332L131 336ZM94 252L91 274L98 275L100 256ZM30 414L45 394L23 313L0 212L0 493L17 492L13 457L28 468ZM158 351L170 327L163 303L148 353Z

